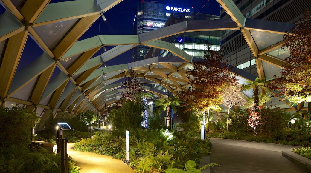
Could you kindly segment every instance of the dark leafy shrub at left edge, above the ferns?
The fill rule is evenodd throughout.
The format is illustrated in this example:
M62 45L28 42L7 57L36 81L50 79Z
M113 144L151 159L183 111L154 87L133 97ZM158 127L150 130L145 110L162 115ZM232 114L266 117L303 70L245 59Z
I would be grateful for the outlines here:
M0 148L28 146L30 128L37 122L36 113L22 107L0 108Z

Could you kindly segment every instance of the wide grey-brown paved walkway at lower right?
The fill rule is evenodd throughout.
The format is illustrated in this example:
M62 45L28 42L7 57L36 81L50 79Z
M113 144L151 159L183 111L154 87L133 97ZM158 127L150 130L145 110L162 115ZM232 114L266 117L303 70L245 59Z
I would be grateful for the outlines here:
M306 172L282 156L281 151L297 146L248 142L243 140L214 139L211 172Z

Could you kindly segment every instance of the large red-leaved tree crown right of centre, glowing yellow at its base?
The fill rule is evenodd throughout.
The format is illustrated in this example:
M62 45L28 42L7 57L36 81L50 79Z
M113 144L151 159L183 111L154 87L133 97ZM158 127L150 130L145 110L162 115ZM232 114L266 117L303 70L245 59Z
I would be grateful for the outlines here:
M221 62L223 59L222 48L219 51L211 50L207 44L203 59L193 61L193 69L187 68L191 87L189 91L178 92L179 98L183 100L182 105L188 107L186 111L220 104L221 90L236 84L236 74L231 73L232 67L228 67L227 60Z

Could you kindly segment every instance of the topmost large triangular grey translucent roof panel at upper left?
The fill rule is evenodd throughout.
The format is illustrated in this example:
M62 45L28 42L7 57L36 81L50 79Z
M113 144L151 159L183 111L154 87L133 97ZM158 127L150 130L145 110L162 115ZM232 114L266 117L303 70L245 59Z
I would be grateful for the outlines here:
M60 40L64 34L76 23L78 19L61 21L53 24L34 27L45 45L51 49Z

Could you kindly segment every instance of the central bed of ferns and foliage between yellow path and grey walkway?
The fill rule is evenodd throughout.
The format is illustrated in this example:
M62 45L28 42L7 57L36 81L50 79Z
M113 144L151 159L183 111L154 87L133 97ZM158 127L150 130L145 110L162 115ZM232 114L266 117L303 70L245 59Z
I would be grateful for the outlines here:
M197 133L197 132L196 132ZM188 160L200 162L202 155L209 155L211 144L195 138L188 132L168 129L130 129L130 161L137 172L162 172L172 167L182 168ZM125 134L104 134L81 139L75 150L93 152L125 160Z

